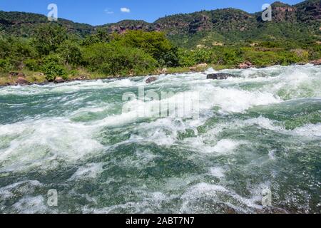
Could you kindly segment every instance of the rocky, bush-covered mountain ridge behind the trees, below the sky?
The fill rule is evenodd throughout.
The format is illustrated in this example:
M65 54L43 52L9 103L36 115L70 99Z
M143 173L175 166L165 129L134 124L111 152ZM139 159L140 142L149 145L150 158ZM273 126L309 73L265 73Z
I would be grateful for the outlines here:
M262 21L262 12L249 14L239 9L216 9L192 14L165 16L153 23L125 20L103 26L59 19L71 33L86 36L97 28L108 32L126 30L164 31L178 46L215 46L244 41L278 41L321 38L321 1L307 0L293 6L280 1L272 4L272 21ZM15 36L31 36L46 16L0 11L0 31Z

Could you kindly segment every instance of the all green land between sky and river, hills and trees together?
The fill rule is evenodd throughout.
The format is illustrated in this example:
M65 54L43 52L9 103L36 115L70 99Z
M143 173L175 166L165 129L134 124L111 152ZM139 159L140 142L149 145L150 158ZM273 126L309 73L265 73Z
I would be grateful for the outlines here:
M34 82L183 72L200 63L222 69L320 59L318 1L272 6L275 20L268 22L260 13L222 9L96 28L0 11L0 84L14 82L18 72Z

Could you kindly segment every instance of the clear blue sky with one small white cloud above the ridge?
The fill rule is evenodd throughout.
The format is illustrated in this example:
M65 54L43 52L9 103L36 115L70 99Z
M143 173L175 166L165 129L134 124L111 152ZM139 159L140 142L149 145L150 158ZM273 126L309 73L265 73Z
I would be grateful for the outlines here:
M282 0L297 4L302 0ZM0 0L2 11L26 11L48 14L47 6L58 6L58 17L72 21L101 25L123 19L141 19L153 22L172 14L233 7L250 13L261 11L270 0Z

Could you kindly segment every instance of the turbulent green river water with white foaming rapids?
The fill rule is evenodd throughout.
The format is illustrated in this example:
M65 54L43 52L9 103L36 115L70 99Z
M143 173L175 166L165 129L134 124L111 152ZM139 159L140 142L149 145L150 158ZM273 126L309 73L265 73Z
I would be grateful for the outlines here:
M0 212L320 213L321 67L223 72L0 88ZM134 115L139 86L198 118Z

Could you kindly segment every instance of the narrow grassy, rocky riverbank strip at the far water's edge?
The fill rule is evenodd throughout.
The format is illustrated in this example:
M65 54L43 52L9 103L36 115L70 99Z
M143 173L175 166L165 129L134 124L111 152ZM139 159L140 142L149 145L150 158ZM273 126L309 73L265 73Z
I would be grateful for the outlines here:
M306 63L296 63L296 65L305 65L311 63L315 66L321 64L320 60L310 61ZM242 64L246 63L241 63ZM217 65L217 64L199 64L197 66L190 66L190 67L175 67L175 68L163 68L158 69L150 73L150 75L157 76L162 74L175 74L175 73L188 73L188 72L203 72L208 68L213 68L215 71L221 71L224 69L235 69L240 68L240 66L228 66L228 65ZM251 66L250 67L255 67ZM246 68L246 66L245 66ZM262 68L262 67L260 67ZM1 73L0 74L0 86L26 86L26 85L44 85L47 83L68 83L71 81L90 81L90 80L99 80L99 79L115 79L115 78L131 78L132 76L106 76L100 73L89 72L83 68L79 68L78 70L74 71L72 74L68 75L68 79L63 80L63 78L56 78L56 81L47 81L46 76L44 73L35 72L35 71L14 71L10 73ZM135 75L136 76L136 75Z

